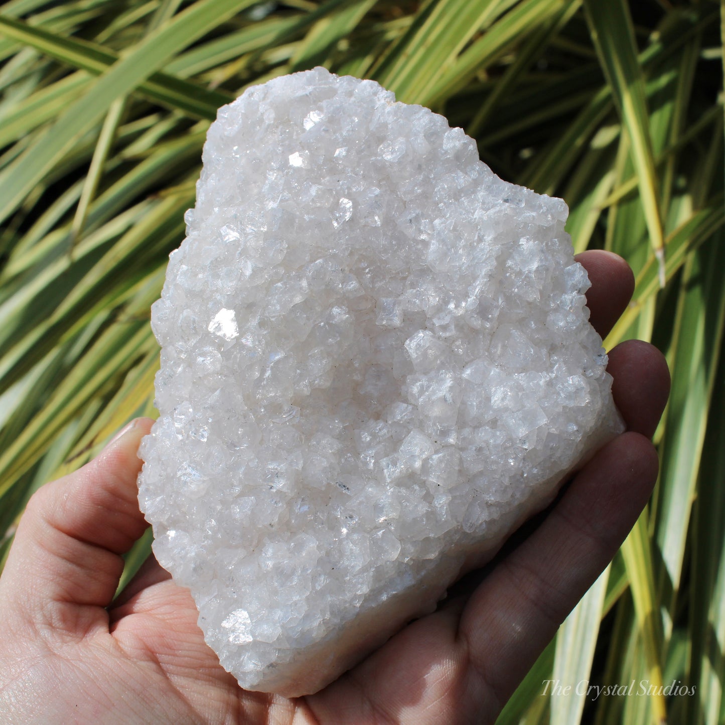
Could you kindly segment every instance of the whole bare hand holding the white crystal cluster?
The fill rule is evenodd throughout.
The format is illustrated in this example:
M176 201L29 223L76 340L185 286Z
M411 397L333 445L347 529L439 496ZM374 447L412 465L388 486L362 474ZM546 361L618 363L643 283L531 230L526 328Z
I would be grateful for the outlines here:
M626 307L624 260L584 252L592 324ZM316 695L245 692L196 626L188 590L150 559L112 602L138 510L140 419L75 473L30 500L0 577L0 713L11 724L493 722L560 623L605 568L650 497L650 438L669 375L652 346L610 352L628 430L600 450L526 536L469 576L436 613L408 625Z

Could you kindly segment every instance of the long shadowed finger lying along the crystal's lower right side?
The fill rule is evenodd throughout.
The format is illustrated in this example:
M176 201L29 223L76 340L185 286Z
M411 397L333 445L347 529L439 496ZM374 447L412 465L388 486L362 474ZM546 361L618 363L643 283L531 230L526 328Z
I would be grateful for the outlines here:
M613 558L657 478L653 444L614 439L579 472L539 529L494 568L458 629L467 697L500 707Z

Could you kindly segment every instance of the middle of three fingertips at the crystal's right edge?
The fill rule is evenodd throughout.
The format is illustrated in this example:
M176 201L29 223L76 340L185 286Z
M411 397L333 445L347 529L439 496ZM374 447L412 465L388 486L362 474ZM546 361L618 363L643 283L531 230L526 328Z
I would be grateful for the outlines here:
M647 438L655 433L670 393L665 356L642 340L627 340L609 353L612 395L629 431Z

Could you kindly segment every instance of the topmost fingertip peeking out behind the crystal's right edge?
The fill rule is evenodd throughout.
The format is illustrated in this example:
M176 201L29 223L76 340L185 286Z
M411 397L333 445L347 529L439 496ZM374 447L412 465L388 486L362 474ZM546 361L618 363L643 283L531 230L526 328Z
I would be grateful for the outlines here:
M634 292L634 274L613 252L591 249L577 254L574 259L587 270L592 283L587 291L589 321L603 339L629 305Z

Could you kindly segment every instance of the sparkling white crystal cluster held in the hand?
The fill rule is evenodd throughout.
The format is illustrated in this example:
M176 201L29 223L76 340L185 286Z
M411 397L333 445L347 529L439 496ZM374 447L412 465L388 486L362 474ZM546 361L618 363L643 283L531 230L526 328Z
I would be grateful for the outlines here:
M566 205L317 68L204 146L152 326L141 507L243 687L314 692L621 431Z

